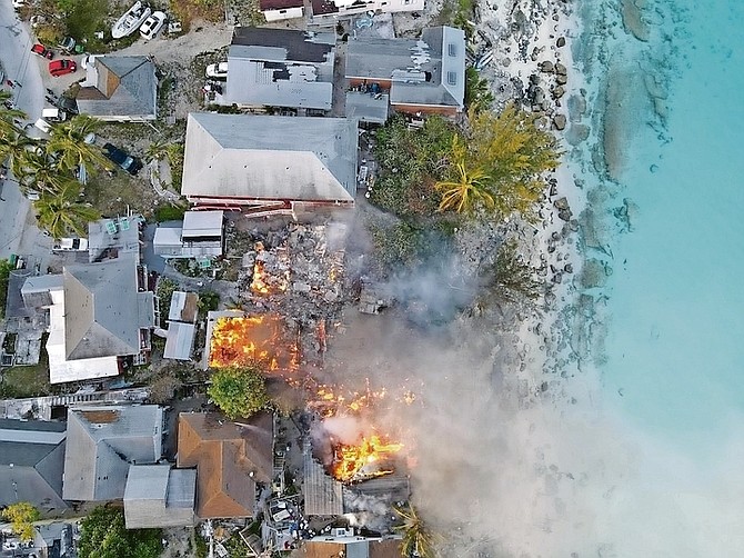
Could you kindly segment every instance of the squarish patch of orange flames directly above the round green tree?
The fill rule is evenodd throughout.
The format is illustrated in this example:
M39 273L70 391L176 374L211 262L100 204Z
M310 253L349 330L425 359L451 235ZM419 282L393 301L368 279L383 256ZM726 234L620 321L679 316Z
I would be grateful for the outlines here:
M259 363L269 370L293 368L295 351L286 350L278 316L219 318L212 328L209 365L215 368Z

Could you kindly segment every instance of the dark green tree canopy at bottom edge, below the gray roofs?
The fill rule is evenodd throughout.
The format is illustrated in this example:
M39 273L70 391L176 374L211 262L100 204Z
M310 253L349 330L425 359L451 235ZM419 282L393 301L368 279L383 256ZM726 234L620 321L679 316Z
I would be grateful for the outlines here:
M127 529L124 511L99 506L80 524L80 558L157 558L162 551L160 529Z

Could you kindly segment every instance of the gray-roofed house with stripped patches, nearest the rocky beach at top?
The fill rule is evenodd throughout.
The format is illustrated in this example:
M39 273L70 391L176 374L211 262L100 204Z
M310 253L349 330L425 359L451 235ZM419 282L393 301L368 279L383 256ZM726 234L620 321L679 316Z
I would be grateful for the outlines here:
M465 33L441 26L419 39L350 38L345 77L389 93L399 112L454 116L465 104Z

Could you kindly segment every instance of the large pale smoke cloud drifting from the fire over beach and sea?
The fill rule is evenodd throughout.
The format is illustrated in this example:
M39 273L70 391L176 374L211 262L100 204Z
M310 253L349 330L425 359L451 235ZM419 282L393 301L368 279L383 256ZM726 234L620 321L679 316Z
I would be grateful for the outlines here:
M446 290L430 277L396 291ZM401 432L413 502L450 541L443 556L744 556L741 438L715 464L691 462L621 421L593 372L569 358L544 367L520 323L460 315L426 330L399 309L344 326L355 337L335 336L328 363L345 386L414 387L415 401L391 397L373 420Z

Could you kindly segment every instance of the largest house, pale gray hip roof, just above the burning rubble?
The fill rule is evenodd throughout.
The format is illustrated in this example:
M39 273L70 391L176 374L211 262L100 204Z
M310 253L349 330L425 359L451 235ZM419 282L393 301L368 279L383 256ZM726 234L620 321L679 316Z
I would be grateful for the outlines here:
M353 207L356 139L343 118L192 112L181 193L249 215Z

